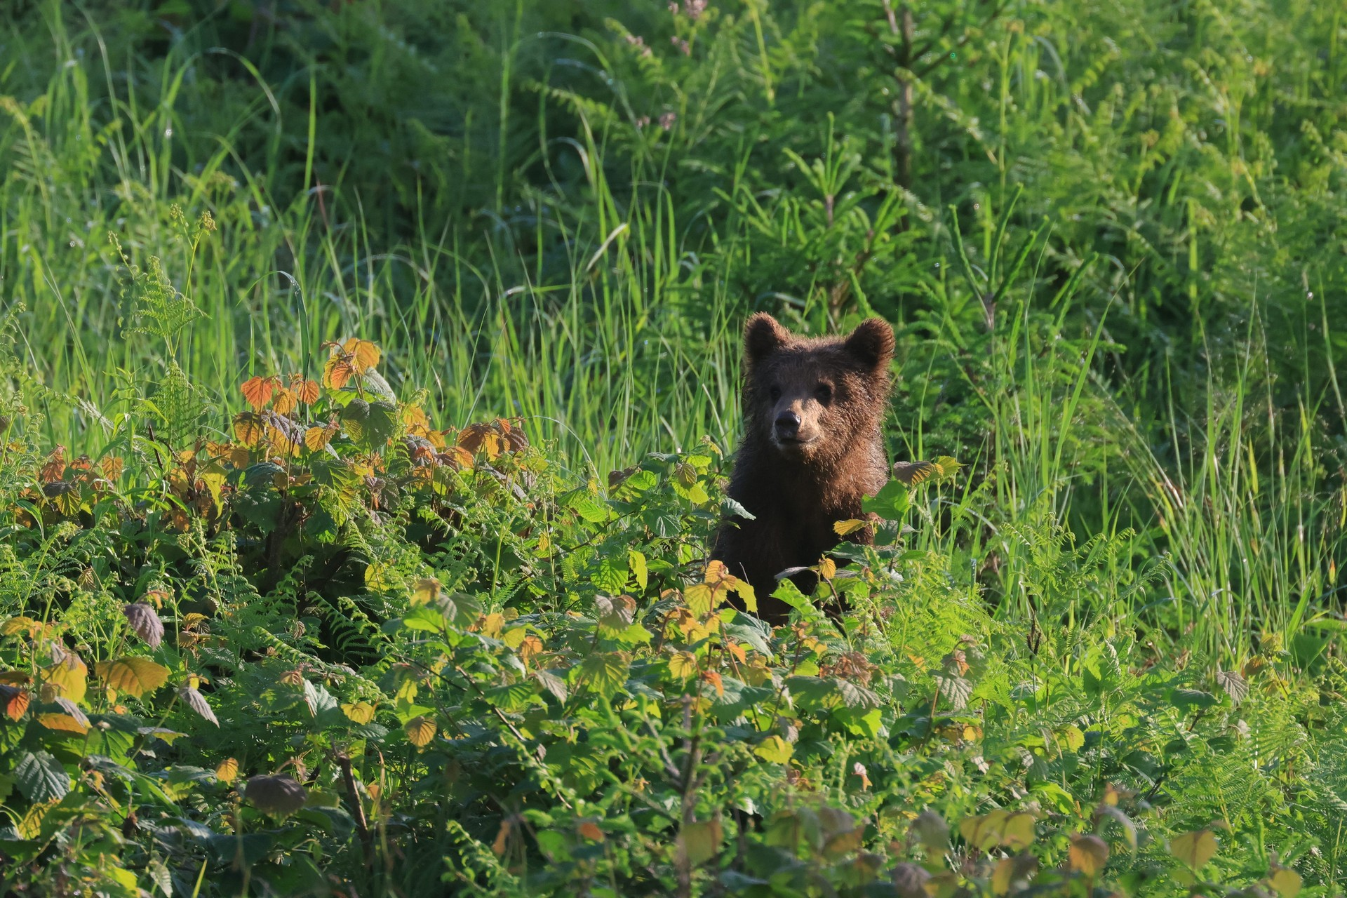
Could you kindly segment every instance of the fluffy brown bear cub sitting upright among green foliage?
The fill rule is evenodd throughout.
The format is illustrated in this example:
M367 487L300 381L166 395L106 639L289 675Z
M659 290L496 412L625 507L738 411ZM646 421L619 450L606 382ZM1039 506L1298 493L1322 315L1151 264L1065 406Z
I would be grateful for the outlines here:
M889 400L893 329L870 318L847 337L796 337L764 312L744 329L744 439L729 494L754 518L729 517L713 559L757 594L758 615L781 622L776 575L818 564L861 518L861 498L889 479L881 424ZM870 528L846 537L865 543ZM806 594L812 572L791 578Z

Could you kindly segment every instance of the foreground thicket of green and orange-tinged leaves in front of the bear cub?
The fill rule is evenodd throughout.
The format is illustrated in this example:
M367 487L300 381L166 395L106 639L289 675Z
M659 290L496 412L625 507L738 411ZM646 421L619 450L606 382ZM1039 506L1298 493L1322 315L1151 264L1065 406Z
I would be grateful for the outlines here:
M1327 882L1340 710L1274 642L1216 669L1107 614L1149 583L1129 534L1009 528L1028 614L998 613L907 526L959 493L942 462L773 630L704 561L713 443L578 479L511 421L431 428L372 343L329 353L321 384L249 378L228 442L11 444L7 890Z

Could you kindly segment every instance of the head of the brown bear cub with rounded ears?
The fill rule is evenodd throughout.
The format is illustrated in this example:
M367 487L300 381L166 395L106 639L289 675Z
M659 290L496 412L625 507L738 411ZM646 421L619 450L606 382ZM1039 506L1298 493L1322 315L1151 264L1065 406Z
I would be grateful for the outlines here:
M745 427L783 456L822 463L878 434L893 329L870 318L847 337L796 337L770 315L744 329Z

